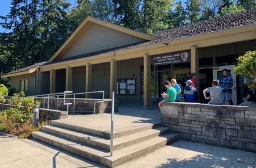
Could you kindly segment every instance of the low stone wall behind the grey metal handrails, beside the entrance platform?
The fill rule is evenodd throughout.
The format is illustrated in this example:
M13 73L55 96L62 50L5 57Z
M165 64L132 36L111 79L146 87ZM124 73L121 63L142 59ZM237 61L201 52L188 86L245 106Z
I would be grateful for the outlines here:
M34 98L35 100L40 101L40 108L47 108L47 97L44 99L43 97ZM93 111L94 110L94 102L101 101L101 99L85 99L85 98L76 98L75 100L75 111ZM95 113L111 113L112 109L112 100L104 99L103 103L96 103L96 111ZM73 98L66 98L66 103L72 103L69 105L69 113L73 114ZM63 106L63 98L50 98L49 101L49 109L53 110L62 110L67 111L67 106ZM114 112L119 111L119 100L114 100ZM80 112L76 112L80 113ZM86 113L86 112L81 112Z

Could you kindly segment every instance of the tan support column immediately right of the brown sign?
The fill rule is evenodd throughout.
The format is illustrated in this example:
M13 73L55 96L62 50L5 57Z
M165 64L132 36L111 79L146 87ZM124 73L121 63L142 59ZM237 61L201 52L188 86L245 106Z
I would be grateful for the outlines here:
M199 52L196 45L191 46L191 73L196 73L197 75L197 92L200 91L199 84Z

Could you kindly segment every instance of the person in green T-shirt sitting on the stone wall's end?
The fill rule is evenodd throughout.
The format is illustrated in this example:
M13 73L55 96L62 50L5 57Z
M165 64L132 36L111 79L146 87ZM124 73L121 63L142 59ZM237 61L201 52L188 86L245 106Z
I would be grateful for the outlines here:
M162 94L162 98L164 98L164 100L162 100L160 103L158 103L158 106L160 108L160 110L162 111L162 103L165 102L175 102L176 100L176 96L177 96L177 91L174 87L172 87L171 83L169 81L166 81L164 83L165 87L167 87L167 93L166 94Z

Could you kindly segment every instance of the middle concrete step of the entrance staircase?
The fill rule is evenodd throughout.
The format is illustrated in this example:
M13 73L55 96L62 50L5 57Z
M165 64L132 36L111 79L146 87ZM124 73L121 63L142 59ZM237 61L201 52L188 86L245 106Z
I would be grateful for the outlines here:
M110 139L107 139L105 137L82 133L79 131L73 131L70 129L56 127L52 125L43 126L42 130L110 151ZM117 137L116 139L114 139L113 149L121 149L123 147L130 146L140 141L148 140L164 133L169 133L169 131L169 127L157 127L155 129L149 129L145 131L140 131L138 133L129 134L127 136Z

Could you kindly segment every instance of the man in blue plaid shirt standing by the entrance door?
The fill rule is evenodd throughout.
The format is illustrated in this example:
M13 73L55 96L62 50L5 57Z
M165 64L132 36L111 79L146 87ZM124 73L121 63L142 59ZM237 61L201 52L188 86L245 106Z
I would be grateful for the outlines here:
M219 77L219 86L222 87L222 104L230 105L231 103L231 88L233 87L233 78L228 75L228 70L223 70L223 75ZM225 102L226 101L226 102Z

